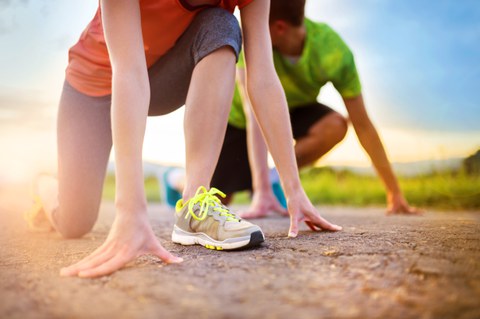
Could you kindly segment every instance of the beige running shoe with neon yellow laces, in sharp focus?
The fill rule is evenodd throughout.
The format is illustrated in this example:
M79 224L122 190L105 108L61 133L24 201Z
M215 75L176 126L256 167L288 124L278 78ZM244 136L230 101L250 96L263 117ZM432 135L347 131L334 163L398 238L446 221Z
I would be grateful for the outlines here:
M172 241L182 245L202 245L213 250L250 248L265 241L260 227L235 215L218 196L216 188L201 186L195 196L176 205Z

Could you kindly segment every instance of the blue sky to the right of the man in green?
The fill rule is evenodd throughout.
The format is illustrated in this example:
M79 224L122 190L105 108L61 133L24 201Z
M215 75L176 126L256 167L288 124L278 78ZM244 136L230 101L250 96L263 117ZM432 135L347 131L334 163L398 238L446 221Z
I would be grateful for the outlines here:
M332 16L346 15L338 20L337 30L357 55L365 94L375 97L373 104L382 104L375 111L383 125L479 130L479 1L310 1L312 4L318 8L307 14L330 21L334 27L337 19Z

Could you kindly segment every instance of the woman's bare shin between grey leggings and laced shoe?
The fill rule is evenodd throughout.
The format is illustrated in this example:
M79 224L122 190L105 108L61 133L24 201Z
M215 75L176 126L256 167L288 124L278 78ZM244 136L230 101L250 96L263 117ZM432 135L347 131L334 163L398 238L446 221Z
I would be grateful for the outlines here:
M195 67L185 108L186 181L183 198L210 187L227 128L235 85L235 54L222 47Z

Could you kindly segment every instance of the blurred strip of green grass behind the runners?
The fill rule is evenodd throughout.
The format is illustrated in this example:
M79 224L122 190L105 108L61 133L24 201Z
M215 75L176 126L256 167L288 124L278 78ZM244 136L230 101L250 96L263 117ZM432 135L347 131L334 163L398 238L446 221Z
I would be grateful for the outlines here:
M302 184L314 204L348 206L385 205L385 191L375 176L333 171L330 168L312 168L301 173ZM480 176L464 172L441 172L415 177L400 177L400 186L410 204L436 209L480 209ZM104 198L113 200L115 180L108 176ZM156 178L145 179L149 202L160 201L160 188ZM249 194L239 193L237 204L246 204Z

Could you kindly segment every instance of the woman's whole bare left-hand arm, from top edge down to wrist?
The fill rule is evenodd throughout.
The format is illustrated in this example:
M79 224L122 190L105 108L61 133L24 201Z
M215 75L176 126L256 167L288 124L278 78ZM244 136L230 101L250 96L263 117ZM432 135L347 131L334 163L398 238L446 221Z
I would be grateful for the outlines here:
M146 211L142 144L150 99L140 4L100 1L112 66L112 137L119 212Z

